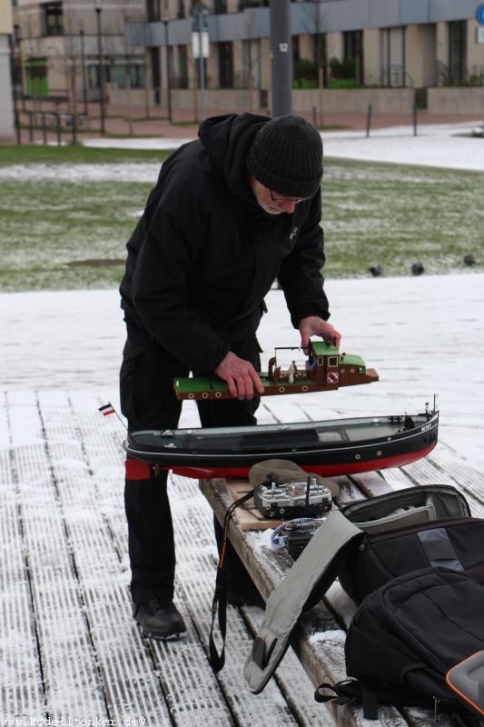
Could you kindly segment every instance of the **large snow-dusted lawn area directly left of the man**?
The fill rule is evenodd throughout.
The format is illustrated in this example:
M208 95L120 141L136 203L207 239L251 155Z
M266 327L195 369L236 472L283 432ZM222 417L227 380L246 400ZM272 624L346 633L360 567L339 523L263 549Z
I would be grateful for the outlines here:
M1 184L0 290L104 288L119 284L125 244L152 184Z

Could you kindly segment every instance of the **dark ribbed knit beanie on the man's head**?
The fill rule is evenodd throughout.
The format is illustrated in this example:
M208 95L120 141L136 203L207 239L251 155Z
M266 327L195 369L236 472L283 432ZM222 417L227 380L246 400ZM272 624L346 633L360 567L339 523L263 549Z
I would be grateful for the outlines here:
M271 119L255 134L247 170L272 192L311 197L321 184L321 135L301 116Z

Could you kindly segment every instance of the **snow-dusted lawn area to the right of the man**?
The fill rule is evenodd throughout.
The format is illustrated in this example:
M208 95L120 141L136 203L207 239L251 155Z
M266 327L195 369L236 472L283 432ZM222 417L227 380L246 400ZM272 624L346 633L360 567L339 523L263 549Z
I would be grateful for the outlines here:
M330 160L323 178L323 227L330 277L462 270L472 253L484 269L479 204L483 174Z

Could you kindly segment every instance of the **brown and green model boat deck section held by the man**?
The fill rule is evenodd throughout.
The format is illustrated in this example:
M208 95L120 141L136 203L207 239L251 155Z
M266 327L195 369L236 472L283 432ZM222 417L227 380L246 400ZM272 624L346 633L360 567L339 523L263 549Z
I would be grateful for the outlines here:
M294 361L283 369L277 361L278 352L295 350L293 347L275 349L275 355L269 360L269 371L260 373L264 386L262 396L334 391L340 386L379 379L375 369L367 368L361 356L340 354L335 346L324 341L311 341L307 361L301 369ZM173 386L178 399L232 399L227 383L218 376L175 379Z

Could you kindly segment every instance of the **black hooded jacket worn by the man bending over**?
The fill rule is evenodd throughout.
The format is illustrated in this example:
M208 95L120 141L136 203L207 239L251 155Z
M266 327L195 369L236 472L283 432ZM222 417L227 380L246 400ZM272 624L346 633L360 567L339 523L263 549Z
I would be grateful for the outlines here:
M216 116L164 164L127 244L120 292L128 324L190 370L212 371L252 336L276 277L295 328L329 318L322 288L321 194L267 214L246 159L267 116Z

